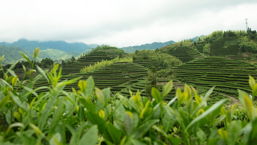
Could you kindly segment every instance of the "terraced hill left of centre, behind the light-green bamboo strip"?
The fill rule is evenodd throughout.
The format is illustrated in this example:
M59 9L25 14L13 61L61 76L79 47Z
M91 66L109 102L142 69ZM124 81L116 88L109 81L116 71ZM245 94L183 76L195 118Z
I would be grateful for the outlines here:
M102 60L111 60L116 58L119 53L122 53L124 56L127 55L122 49L116 48L116 47L104 47L96 49L95 51L92 51L91 53L86 54L85 56L78 59L77 64L67 64L64 67L62 67L62 74L68 75L73 73L79 73L80 70L85 67L94 65L97 62L101 62Z

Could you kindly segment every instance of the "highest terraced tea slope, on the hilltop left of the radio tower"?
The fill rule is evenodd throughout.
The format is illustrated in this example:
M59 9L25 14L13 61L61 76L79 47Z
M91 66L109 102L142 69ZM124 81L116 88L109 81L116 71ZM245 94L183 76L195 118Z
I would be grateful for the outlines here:
M210 56L238 55L239 43L237 37L223 37L217 39L210 46Z

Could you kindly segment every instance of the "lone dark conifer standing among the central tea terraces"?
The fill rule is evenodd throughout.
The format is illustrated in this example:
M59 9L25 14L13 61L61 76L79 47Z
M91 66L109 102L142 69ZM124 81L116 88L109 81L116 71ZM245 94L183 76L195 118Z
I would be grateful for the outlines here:
M152 91L152 88L154 87L155 89L159 90L160 87L157 86L157 70L156 70L156 67L152 67L150 72L149 72L149 76L148 76L148 83L146 83L146 86L145 86L145 89L146 89L146 95L148 97L151 96L151 91Z

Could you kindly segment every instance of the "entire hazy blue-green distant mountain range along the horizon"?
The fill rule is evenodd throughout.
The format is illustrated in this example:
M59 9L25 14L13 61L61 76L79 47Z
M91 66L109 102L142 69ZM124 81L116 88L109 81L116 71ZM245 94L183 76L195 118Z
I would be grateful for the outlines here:
M201 35L200 37L203 37ZM198 36L192 38L197 42ZM189 39L191 40L191 39ZM151 44L144 44L140 46L129 46L120 48L127 53L133 53L136 50L143 49L155 50L166 45L175 43L174 41L168 42L153 42ZM30 41L26 39L19 39L13 43L0 42L0 54L5 54L3 63L14 63L16 61L24 60L20 52L26 54L30 59L33 59L32 53L35 48L40 48L40 55L37 61L41 59L50 58L52 60L65 60L72 56L80 57L82 53L89 53L92 48L97 47L97 44L85 44L83 42L67 43L65 41ZM1 56L1 55L0 55Z

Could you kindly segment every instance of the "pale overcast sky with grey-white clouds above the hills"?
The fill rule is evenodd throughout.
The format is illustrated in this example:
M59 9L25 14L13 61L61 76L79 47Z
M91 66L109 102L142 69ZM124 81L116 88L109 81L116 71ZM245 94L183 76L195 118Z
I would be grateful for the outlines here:
M119 48L257 29L256 0L1 0L0 42L18 39Z

